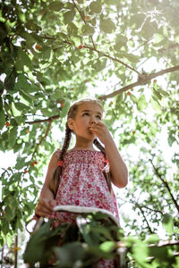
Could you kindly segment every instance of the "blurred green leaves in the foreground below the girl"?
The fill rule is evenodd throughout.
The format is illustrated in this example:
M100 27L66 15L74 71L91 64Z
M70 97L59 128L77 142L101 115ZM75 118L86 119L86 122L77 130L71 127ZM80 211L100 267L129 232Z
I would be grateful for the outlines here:
M101 258L113 258L120 267L126 267L126 263L133 267L133 260L136 267L146 268L177 264L172 251L179 249L179 243L158 247L157 235L145 240L124 238L123 230L105 214L78 216L76 222L76 225L64 223L55 229L50 228L52 221L42 225L27 244L23 255L25 263L30 267L38 263L40 267L91 267Z

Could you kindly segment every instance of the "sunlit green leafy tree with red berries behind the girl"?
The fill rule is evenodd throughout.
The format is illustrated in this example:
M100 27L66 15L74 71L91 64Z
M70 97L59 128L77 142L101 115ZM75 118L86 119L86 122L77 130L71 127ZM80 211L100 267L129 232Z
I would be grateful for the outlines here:
M64 130L72 101L99 82L96 96L129 164L126 198L144 223L132 227L144 238L172 214L177 238L178 13L177 0L2 1L0 149L19 155L1 175L2 245L34 211L42 166L58 147L54 129ZM159 147L164 129L171 163ZM139 160L127 154L132 145Z

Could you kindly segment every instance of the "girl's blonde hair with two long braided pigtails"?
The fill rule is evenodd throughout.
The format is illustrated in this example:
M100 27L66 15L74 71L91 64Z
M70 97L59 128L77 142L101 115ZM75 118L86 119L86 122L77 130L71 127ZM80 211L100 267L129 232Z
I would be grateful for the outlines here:
M93 98L84 98L81 99L75 103L73 103L73 105L71 106L68 115L67 115L67 121L66 121L66 129L65 129L65 138L64 138L64 145L60 151L60 155L59 155L59 161L64 161L64 155L66 154L68 147L70 145L70 141L71 141L71 137L72 137L72 130L69 128L68 126L68 119L72 118L74 119L76 116L76 113L78 112L78 107L84 103L94 103L97 104L101 107L102 111L103 111L103 106L101 104L101 102L98 99L93 99ZM93 144L98 147L98 149L103 153L103 155L106 158L106 152L105 152L105 147L103 147L101 145L101 143L98 141L97 138L94 139ZM107 180L107 186L109 188L109 191L111 192L111 173L110 172L106 172L104 171L104 176ZM58 166L54 172L53 178L49 181L49 187L52 190L52 192L54 193L54 195L56 195L57 192L57 188L59 186L59 182L60 182L60 178L62 175L62 166Z

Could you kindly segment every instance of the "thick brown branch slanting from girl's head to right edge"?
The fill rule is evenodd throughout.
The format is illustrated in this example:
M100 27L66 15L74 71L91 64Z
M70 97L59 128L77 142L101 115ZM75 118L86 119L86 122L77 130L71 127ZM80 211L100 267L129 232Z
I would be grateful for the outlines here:
M147 74L143 75L143 76L140 77L140 79L137 82L134 82L131 85L128 85L128 86L126 86L124 88L120 88L120 89L116 90L113 93L110 93L110 94L107 94L107 95L104 95L104 96L99 96L98 98L100 100L104 100L104 99L116 96L116 95L121 94L124 91L127 91L127 90L129 90L131 88L135 88L135 87L138 87L138 86L141 86L141 85L148 84L150 80L152 80L152 79L154 79L154 78L156 78L156 77L158 77L160 75L163 75L163 74L168 73L168 72L178 71L178 70L179 70L179 65L177 65L175 67L172 67L172 68L165 69L165 70L157 71L157 72L151 73L149 75L147 75Z

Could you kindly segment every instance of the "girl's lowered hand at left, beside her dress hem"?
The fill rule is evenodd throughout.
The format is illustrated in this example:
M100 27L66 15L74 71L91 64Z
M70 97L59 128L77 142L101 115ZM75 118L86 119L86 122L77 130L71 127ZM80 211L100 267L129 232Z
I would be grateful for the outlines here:
M35 215L50 218L54 212L53 208L55 205L55 199L40 198L38 205L36 206Z

